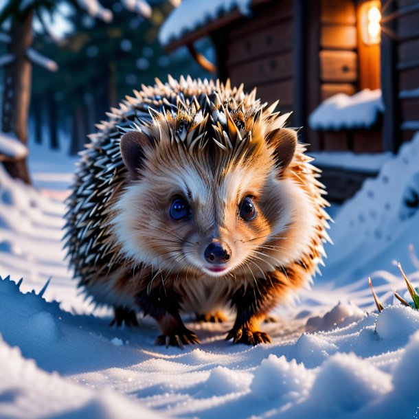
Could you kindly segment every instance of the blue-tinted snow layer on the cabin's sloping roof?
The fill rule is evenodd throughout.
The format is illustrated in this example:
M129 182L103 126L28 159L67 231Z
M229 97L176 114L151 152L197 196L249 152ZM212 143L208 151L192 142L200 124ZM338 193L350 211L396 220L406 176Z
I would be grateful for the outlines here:
M249 14L250 4L251 0L183 0L161 26L159 41L167 45L236 8Z

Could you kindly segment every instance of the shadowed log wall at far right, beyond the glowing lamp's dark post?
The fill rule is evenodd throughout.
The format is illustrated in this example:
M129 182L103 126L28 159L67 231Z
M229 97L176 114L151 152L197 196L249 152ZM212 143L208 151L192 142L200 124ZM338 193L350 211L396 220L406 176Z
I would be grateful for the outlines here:
M400 101L401 140L409 141L419 131L419 1L398 0L398 100Z

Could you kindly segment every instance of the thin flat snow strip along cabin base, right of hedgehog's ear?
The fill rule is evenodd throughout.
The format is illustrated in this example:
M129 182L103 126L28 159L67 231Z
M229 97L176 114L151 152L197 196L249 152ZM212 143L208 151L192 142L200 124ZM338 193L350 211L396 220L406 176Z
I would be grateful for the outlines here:
M361 172L377 173L392 159L392 152L354 153L352 151L310 152L316 164L328 168L341 168Z

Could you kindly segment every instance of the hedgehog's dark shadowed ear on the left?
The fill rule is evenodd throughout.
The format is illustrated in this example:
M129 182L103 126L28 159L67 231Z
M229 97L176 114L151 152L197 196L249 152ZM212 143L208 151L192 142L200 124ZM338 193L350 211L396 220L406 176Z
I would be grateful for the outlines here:
M145 148L150 146L151 141L148 135L141 131L128 131L121 137L121 155L128 172L138 176L141 161L144 160Z

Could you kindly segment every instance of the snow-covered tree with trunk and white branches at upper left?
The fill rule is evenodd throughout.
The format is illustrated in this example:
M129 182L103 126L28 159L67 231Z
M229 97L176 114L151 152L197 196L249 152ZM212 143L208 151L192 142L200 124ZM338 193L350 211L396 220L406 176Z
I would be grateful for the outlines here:
M91 16L110 22L111 10L104 8L98 0L67 0L73 7L86 10ZM0 10L0 25L10 20L10 36L3 36L7 43L7 54L0 58L5 66L5 88L2 103L2 130L13 133L23 144L27 144L27 117L30 106L32 64L41 65L51 71L57 70L54 61L41 56L32 48L34 15L45 26L43 14L53 14L58 8L56 0L7 0ZM150 6L144 0L121 0L124 8L131 12L149 16ZM0 159L1 160L1 159ZM14 178L30 183L26 158L3 162Z

